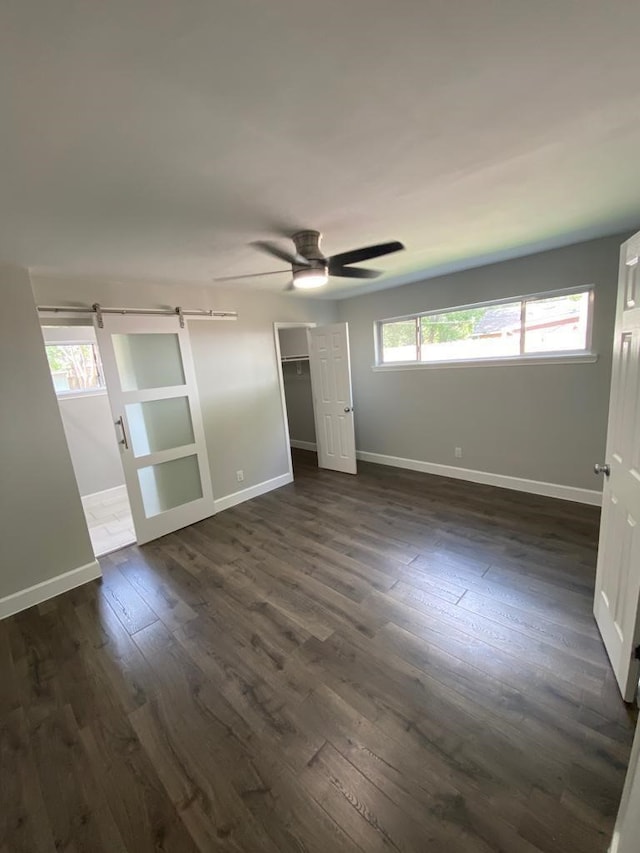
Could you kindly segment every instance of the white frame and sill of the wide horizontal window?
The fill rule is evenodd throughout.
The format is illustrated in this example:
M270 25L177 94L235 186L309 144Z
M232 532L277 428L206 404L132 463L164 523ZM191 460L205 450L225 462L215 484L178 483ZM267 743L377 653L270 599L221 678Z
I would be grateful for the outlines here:
M529 302L553 299L558 296L571 296L576 293L589 294L589 307L587 315L587 335L585 349L580 350L549 350L548 352L525 353L525 335L520 335L520 354L479 358L456 358L443 359L442 361L421 361L422 340L420 333L420 321L423 317L432 317L440 314L467 311L472 308L486 308L494 305L508 305L520 302L521 329L525 327L527 304ZM447 308L434 308L430 311L421 311L414 314L402 314L398 317L385 317L382 320L374 320L374 364L373 370L434 370L447 367L477 367L491 365L516 365L516 364L562 364L562 363L590 363L598 360L598 354L592 349L593 346L593 314L595 305L595 284L579 285L576 287L564 287L555 290L528 293L522 296L506 296L501 299L487 299L483 302L472 302L465 305L455 305ZM416 360L415 361L384 361L382 330L387 323L398 323L414 320L416 323Z

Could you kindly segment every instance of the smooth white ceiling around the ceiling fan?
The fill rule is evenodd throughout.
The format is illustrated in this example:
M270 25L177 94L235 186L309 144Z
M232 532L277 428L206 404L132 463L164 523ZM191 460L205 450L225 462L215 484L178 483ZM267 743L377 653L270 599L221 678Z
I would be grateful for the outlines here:
M636 0L3 0L0 33L0 259L41 274L273 270L248 244L307 227L402 240L391 286L640 224Z

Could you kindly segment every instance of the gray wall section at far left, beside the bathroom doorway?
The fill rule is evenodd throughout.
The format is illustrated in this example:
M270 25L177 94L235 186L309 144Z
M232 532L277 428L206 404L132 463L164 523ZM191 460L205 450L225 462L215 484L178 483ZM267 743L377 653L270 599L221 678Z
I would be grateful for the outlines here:
M0 266L0 598L93 562L29 274Z

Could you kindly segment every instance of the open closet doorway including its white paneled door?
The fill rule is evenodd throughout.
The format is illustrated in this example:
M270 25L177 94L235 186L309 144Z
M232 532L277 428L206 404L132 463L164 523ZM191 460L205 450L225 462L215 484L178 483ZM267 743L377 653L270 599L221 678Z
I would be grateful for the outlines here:
M274 323L274 334L291 474L291 448L357 473L347 324Z

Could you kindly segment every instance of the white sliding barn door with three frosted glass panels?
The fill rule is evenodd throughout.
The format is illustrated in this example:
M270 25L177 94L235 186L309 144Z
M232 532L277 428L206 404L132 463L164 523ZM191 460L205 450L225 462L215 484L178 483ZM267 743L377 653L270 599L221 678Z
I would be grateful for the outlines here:
M178 318L103 314L96 337L139 543L213 514L189 333Z

